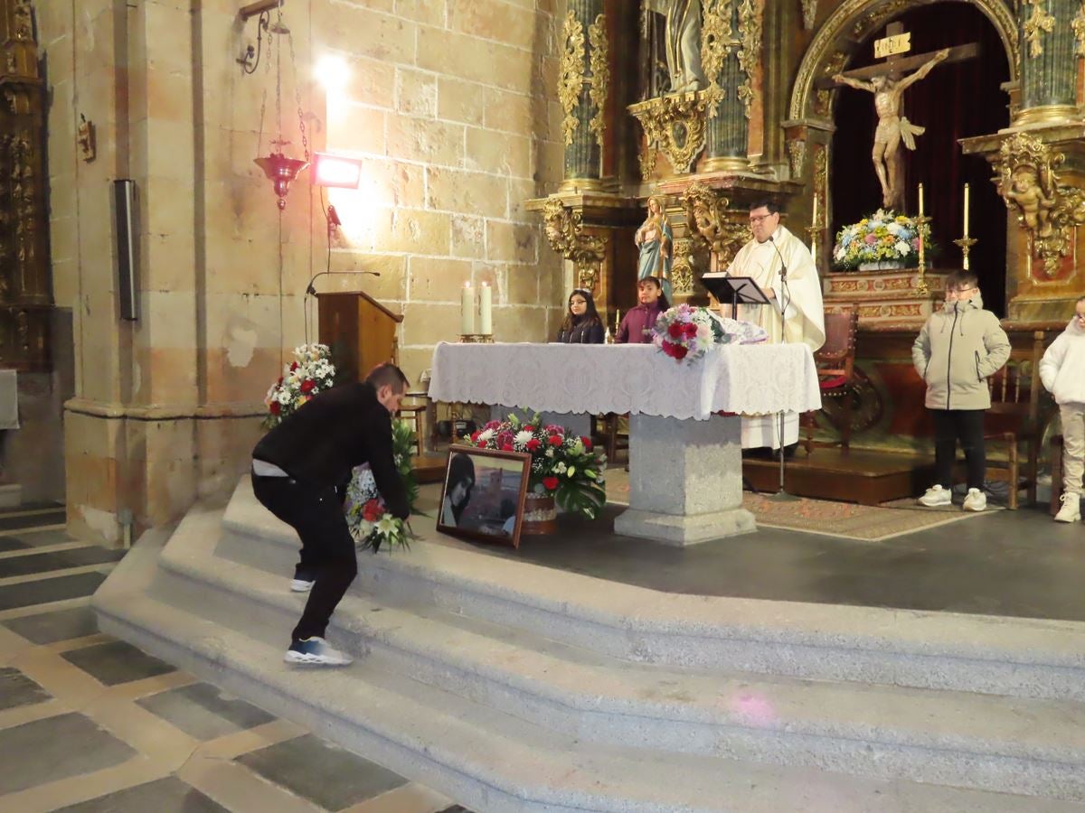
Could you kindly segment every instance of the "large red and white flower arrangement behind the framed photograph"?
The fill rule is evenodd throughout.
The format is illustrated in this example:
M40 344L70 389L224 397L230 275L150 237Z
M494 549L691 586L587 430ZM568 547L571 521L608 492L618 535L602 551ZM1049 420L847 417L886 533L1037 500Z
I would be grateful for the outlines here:
M607 503L607 455L592 448L590 438L574 435L563 426L544 426L538 415L526 422L515 415L509 415L507 421L490 421L478 431L463 436L462 442L476 449L528 452L528 489L552 494L563 511L593 519Z

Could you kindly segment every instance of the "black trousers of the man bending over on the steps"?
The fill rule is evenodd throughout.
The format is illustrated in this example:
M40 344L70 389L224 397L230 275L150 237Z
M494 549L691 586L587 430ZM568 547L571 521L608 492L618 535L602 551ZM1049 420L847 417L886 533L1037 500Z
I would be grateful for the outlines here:
M332 612L358 575L354 537L343 515L343 501L331 487L256 474L253 493L264 507L297 531L302 539L298 575L315 581L293 640L323 637Z

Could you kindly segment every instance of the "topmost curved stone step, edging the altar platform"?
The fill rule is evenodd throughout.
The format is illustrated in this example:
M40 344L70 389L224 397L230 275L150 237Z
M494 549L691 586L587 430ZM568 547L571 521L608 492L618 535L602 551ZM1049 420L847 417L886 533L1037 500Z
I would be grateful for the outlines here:
M433 520L412 519L436 539ZM246 480L224 555L289 573L293 530ZM245 540L248 540L246 544ZM1085 702L1085 624L663 593L426 542L362 555L356 589L623 660Z

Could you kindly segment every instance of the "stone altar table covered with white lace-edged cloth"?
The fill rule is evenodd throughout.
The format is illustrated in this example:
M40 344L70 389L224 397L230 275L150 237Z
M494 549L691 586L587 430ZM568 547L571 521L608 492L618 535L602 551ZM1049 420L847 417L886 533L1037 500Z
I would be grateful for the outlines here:
M742 508L741 414L821 405L806 345L725 345L687 364L652 345L443 343L430 397L629 413L629 507L614 530L676 545L755 528Z

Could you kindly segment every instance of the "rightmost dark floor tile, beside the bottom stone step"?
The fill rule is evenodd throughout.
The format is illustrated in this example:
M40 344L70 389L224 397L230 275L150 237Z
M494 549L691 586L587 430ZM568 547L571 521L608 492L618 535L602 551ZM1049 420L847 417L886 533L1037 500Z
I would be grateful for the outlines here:
M386 767L311 734L243 754L237 761L324 810L342 810L407 784Z

